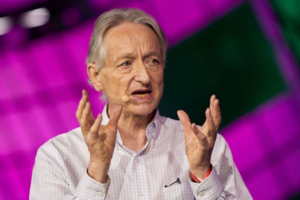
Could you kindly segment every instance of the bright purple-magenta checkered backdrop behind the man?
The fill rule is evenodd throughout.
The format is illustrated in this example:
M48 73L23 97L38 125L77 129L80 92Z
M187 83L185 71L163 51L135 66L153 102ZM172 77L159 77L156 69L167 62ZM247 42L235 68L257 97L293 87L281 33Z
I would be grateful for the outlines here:
M36 2L41 1L2 1L0 13ZM162 26L170 46L243 2L88 1L102 11L113 7L145 10ZM219 132L229 143L254 199L287 199L300 191L299 70L268 1L253 0L251 7L289 89ZM70 12L76 15L76 10ZM68 24L67 17L62 20ZM75 112L82 89L90 94L93 112L102 111L99 94L86 82L85 57L94 21L31 41L27 30L17 26L0 36L4 44L0 49L0 199L28 199L36 151L53 136L79 126ZM19 45L24 42L26 45Z

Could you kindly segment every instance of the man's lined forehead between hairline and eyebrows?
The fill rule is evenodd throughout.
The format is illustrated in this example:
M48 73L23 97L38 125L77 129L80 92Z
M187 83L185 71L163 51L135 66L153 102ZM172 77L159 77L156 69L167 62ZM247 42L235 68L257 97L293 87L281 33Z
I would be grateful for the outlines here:
M110 28L104 38L109 54L117 55L139 50L160 52L158 37L155 32L144 25L123 23Z

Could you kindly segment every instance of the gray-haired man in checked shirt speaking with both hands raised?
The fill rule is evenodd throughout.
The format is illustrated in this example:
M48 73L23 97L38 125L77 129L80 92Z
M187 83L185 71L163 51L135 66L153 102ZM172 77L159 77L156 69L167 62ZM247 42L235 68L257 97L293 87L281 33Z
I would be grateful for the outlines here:
M252 199L217 134L215 95L202 127L184 111L180 122L159 115L166 49L161 27L142 10L98 17L87 72L108 103L94 118L82 91L80 127L38 149L30 199Z

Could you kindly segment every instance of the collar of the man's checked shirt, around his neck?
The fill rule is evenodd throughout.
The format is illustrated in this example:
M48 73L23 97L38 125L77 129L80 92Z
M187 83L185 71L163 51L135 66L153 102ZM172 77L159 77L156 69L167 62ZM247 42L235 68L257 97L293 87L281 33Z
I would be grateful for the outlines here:
M103 111L102 111L102 125L107 125L108 121L110 120L107 115L107 108L108 108L108 103L105 104ZM155 109L155 116L153 120L148 124L148 127L146 129L146 135L148 137L148 140L151 140L154 136L157 136L160 131L161 131L161 116L159 115L158 109ZM154 137L154 139L157 137ZM120 137L119 130L117 130L117 141L120 142L121 144L122 139Z

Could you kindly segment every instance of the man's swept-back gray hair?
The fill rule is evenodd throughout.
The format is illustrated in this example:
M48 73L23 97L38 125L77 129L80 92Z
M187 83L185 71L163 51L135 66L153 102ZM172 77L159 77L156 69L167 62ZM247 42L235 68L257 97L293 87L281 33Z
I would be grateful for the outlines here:
M122 23L140 24L151 28L158 37L163 59L162 62L165 66L167 52L166 35L152 16L137 8L116 8L102 13L97 18L88 47L86 64L94 63L97 65L97 70L101 70L106 63L107 55L107 46L104 44L105 34L110 28L121 25ZM92 86L90 79L88 79L88 82ZM103 93L101 99L106 101L107 96Z

